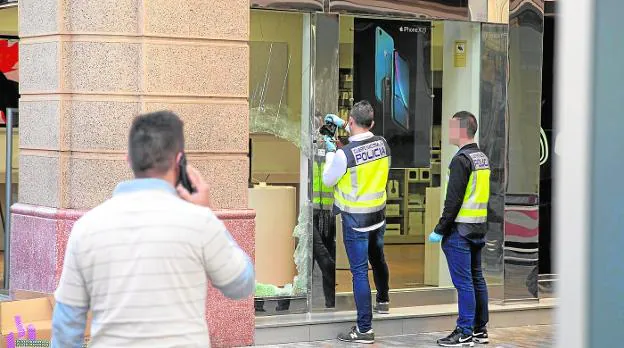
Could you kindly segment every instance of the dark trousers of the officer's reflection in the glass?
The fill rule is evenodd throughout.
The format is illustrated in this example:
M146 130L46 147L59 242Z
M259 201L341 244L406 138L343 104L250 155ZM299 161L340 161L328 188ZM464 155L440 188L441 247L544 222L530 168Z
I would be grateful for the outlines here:
M312 254L323 274L325 307L336 306L336 217L330 210L314 209Z

